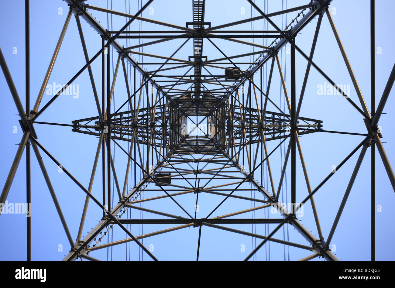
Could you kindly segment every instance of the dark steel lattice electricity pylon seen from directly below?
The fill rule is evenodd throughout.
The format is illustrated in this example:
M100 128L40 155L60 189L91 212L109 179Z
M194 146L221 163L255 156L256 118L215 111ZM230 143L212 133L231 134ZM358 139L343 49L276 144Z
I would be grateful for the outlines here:
M260 4L248 0L245 3L251 5L258 16L246 17L245 20L219 26L211 26L211 22L207 22L210 19L205 19L207 6L205 0L190 1L193 17L192 22L186 23L186 26L141 17L141 13L149 9L152 0L138 10L134 6L135 14L97 7L91 5L90 1L85 3L79 0L65 0L65 2L70 9L38 98L31 110L26 107L25 111L3 55L0 59L24 130L0 202L4 203L7 198L25 147L26 156L30 161L31 144L70 242L70 253L64 260L77 258L97 260L96 250L117 247L124 243L135 243L134 245L137 243L144 250L144 255L157 260L155 250L147 247L145 243L148 243L148 240L144 243L143 239L150 237L171 239L172 233L179 230L194 231L193 236L185 236L185 243L188 243L184 243L184 249L195 251L196 260L199 260L199 253L204 253L200 243L206 235L213 242L237 239L237 243L243 243L236 235L253 239L251 250L240 254L245 260L257 260L258 250L262 251L265 249L262 247L267 247L269 243L280 248L284 245L284 247L300 249L303 252L295 255L304 255L301 257L302 260L318 259L318 257L325 260L339 260L331 251L331 239L369 147L373 150L377 147L391 185L395 188L395 177L380 141L382 136L378 129L378 121L393 85L395 68L391 72L377 109L373 105L369 111L331 17L329 11L331 0L312 0L303 6L270 13ZM98 13L123 17L125 24L119 30L109 31L96 20L95 16ZM286 23L285 28L280 28L273 21L278 15L288 15L288 19L291 19ZM325 74L325 67L319 68L313 60L324 17L330 23L359 103L349 98L329 75ZM238 28L244 23L262 19L268 27L266 30ZM77 36L79 39L75 38L75 44L77 45L77 40L81 40L86 62L81 64L81 70L66 86L58 90L47 103L41 104L57 53L69 22L73 20L76 21L77 35L79 35ZM97 37L102 38L102 46L94 53L88 53L85 43L83 33L85 21L99 34ZM159 27L158 29L165 30L131 30L134 21L154 24ZM311 49L304 52L297 45L297 35L309 23L310 25L316 23L316 28L312 35ZM193 41L190 41L191 38ZM244 38L252 38L254 41L248 42ZM145 41L130 44L136 39ZM161 45L175 39L181 39L182 45L174 46L170 56L161 55ZM225 41L218 42L218 39ZM260 44L263 39L266 45ZM231 54L228 51L224 52L226 50L224 42L237 43L240 45L237 47L242 47L240 51L243 53L237 54L238 51L235 50ZM213 53L215 56L205 55L203 47L206 45L209 46L206 50L215 51ZM284 65L279 58L280 51L286 45L290 47L291 54L290 85L286 85ZM140 50L142 47L155 47L152 51L157 51L158 55L143 53ZM247 49L250 50L249 53L245 53ZM111 51L117 55L112 73L110 72ZM177 58L182 51L188 51L190 56ZM305 59L303 64L307 64L305 70L295 67L295 55ZM144 60L137 62L135 59L138 57L140 59L143 57ZM256 60L241 62L240 59L245 60L246 57ZM95 71L92 71L91 67L93 62L100 61L101 81L97 79L98 77L95 79ZM304 75L298 101L295 89L296 70ZM299 115L310 70L320 73L325 81L346 98L348 103L344 102L344 105L350 105L351 109L360 113L364 121L363 125L367 128L366 133L324 130L322 120L307 118L309 115ZM38 119L43 113L50 113L51 104L86 71L90 83L85 84L92 86L92 94L89 97L94 98L97 114L72 120L67 126L70 126L73 132L87 134L81 135L81 139L93 136L98 138L92 174L88 182L79 179L78 175L69 171L55 155L47 151L39 141L40 135L36 135L34 130L39 124L56 125L56 123L38 122ZM281 95L285 101L283 107L278 105L281 95L271 88L273 75L277 75L282 84ZM116 81L124 82L124 89L117 90L117 99L121 98L122 104L114 107L115 102L112 102L112 97L115 95ZM334 169L338 171L353 154L359 151L349 182L343 187L344 198L340 207L332 207L337 210L337 214L329 233L324 233L320 226L320 216L325 215L318 213L314 195L331 177L336 177L336 173L329 171L327 177L318 186L311 186L299 141L299 136L324 132L351 134L362 139ZM269 146L271 143L275 144ZM270 161L275 161L273 157L277 156L274 156L274 153L282 147L284 153L281 169L275 171L271 169L273 166ZM115 149L118 158L119 153L122 153L122 157L126 159L124 161L126 167L120 168L116 165L112 152ZM83 210L75 210L75 213L82 214L77 235L71 235L62 214L62 203L56 200L55 190L43 162L44 154L56 165L61 166L62 171L86 194ZM296 167L297 158L300 159L301 168ZM297 169L303 172L302 177L306 184L303 187L296 186ZM284 202L282 199L287 193L284 189L287 170L288 180L290 179L290 185L288 184L290 203L293 203L289 207L280 203ZM140 179L139 175L141 175ZM102 183L100 184L102 189L92 189L95 181ZM112 186L112 183L115 183L115 186ZM111 197L112 192L115 194L114 197ZM298 199L301 199L299 202L296 199L297 195ZM298 219L298 211L305 206L310 209L310 214L305 217L314 219L314 228L305 227ZM276 214L273 214L273 209ZM143 218L139 216L142 212ZM99 222L83 237L87 213L94 213ZM145 231L148 232L141 233L140 230L136 230L136 227L141 225L144 225ZM203 233L202 228L207 227L210 229ZM288 239L282 237L285 227L290 228ZM107 237L104 236L115 229L123 234L120 232L113 234L118 238L107 241ZM140 235L135 236L135 233ZM211 238L210 233L214 235ZM175 235L181 237L179 235L184 234ZM240 244L237 245L236 247L239 247L237 249L240 249ZM172 250L168 253L177 252Z

